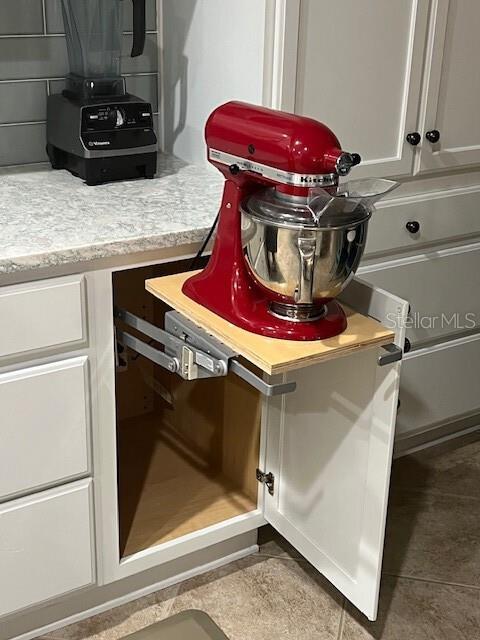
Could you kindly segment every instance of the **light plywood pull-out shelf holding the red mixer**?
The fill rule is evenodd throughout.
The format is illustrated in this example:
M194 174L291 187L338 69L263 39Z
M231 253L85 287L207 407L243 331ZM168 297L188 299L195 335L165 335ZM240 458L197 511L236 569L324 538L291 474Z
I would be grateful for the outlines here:
M394 338L391 330L348 307L344 307L347 329L334 338L313 342L266 338L236 327L185 296L182 286L191 275L192 272L153 278L146 281L146 289L270 375L387 344Z

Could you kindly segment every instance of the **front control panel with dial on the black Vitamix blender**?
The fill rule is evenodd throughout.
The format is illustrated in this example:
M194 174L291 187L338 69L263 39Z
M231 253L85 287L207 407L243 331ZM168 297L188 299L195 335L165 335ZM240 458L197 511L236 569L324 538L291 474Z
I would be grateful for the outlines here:
M81 137L91 151L155 145L152 107L147 102L88 105L82 109Z

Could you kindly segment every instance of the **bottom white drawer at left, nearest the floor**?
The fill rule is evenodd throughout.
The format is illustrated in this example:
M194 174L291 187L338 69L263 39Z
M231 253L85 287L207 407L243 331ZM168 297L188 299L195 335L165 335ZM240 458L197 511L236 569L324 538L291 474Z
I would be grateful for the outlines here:
M94 582L91 480L0 505L0 616Z

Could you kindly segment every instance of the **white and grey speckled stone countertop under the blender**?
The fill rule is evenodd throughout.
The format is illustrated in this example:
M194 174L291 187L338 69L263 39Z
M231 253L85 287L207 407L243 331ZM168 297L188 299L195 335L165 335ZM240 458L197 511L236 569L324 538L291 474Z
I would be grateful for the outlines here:
M0 275L200 242L222 177L160 155L154 180L88 187L47 166L0 172Z

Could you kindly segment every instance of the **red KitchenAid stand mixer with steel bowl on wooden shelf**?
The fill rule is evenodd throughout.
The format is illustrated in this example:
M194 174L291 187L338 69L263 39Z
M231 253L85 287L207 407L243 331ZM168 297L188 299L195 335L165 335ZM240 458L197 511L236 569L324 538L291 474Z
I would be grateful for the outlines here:
M264 336L342 333L334 298L358 267L373 203L396 183L339 186L360 156L310 118L229 102L211 114L205 137L226 182L212 256L184 294Z

